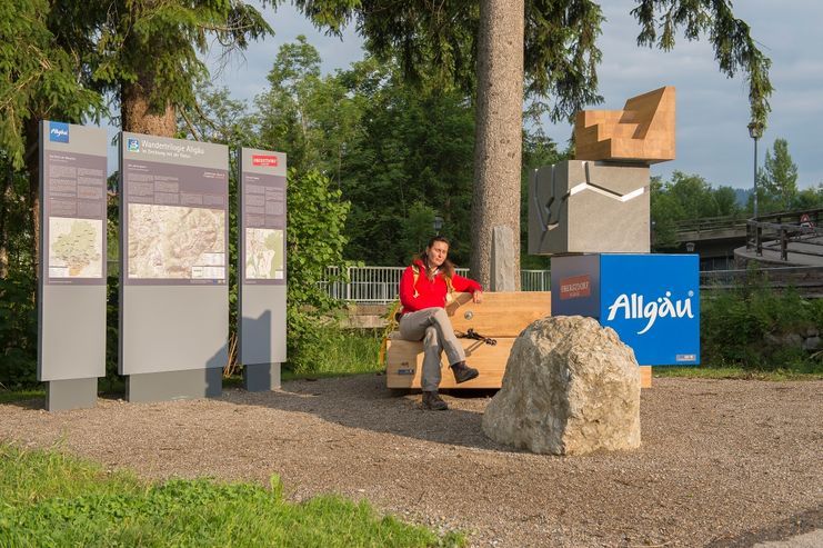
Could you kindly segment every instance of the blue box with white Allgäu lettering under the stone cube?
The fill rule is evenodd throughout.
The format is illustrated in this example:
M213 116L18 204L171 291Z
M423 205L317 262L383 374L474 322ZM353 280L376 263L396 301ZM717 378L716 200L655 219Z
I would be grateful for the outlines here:
M614 329L641 366L700 363L696 255L552 257L552 315Z

